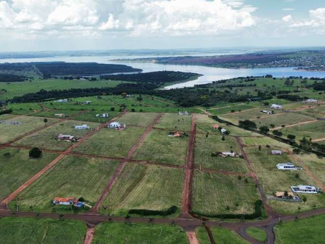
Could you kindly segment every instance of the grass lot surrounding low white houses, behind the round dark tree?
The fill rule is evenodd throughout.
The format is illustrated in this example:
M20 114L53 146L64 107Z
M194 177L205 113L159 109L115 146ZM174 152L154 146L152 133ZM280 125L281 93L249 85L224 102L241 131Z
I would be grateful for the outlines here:
M90 132L90 130L74 129L74 125L88 125L90 129L96 129L99 126L97 123L66 120L54 126L46 128L45 130L41 130L30 136L24 137L21 140L15 142L15 145L37 146L51 150L66 150L73 145L73 142L57 140L55 137L58 134L72 135L81 138Z

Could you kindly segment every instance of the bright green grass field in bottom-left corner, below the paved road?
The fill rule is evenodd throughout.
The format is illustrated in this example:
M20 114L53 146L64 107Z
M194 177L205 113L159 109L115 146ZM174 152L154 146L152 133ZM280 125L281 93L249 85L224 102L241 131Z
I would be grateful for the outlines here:
M0 219L0 239L6 244L83 244L86 230L86 224L77 220L12 217Z

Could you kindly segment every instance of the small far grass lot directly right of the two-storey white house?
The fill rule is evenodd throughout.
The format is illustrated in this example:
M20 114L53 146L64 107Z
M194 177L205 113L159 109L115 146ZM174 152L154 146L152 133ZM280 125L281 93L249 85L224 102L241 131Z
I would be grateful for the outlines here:
M156 113L126 113L118 122L127 126L147 127L157 116Z

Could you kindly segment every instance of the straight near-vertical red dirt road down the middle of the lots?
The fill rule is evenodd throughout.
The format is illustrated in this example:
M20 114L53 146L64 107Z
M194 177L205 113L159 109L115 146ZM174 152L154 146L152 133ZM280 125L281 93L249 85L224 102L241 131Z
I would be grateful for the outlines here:
M187 149L187 159L185 165L184 174L184 186L182 194L182 214L183 217L189 217L189 210L191 209L191 193L192 193L192 181L194 170L194 143L195 143L195 114L192 114L191 129L189 132L189 143Z

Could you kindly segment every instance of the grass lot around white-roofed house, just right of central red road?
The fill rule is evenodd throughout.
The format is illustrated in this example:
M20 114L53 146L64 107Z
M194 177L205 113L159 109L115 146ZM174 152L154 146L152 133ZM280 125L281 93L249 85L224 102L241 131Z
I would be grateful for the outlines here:
M225 140L221 140L222 136L209 135L206 137L203 133L196 134L194 157L197 167L214 169L214 170L228 170L246 173L248 171L246 162L241 158L221 156L211 157L212 153L230 152L240 154L241 151L236 142L236 138L226 136Z

